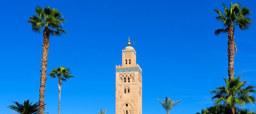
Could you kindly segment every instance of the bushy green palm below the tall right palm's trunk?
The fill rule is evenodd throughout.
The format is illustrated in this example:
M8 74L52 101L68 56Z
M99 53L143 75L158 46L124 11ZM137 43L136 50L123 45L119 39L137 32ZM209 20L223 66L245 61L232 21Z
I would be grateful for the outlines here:
M236 105L245 105L247 103L255 103L255 97L252 93L255 93L255 86L248 85L246 81L240 81L241 77L231 77L230 80L224 79L226 86L216 87L216 90L212 91L212 94L216 94L212 99L216 99L214 102L217 105L221 103L230 109L230 114L235 114Z

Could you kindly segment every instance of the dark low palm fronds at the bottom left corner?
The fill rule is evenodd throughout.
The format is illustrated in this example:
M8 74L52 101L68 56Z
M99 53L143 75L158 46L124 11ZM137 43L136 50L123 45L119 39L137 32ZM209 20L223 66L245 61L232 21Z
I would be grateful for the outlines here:
M19 104L18 102L13 102L13 103L15 105L9 105L8 108L17 111L20 114L37 114L38 102L33 105L31 105L33 101L29 103L29 100L27 101L24 100L23 105Z

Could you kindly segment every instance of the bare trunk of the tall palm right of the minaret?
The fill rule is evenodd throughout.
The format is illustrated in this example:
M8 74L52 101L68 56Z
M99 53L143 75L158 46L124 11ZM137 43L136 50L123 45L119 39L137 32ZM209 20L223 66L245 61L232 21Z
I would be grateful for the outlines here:
M227 42L227 45L228 45L228 50L227 50L227 53L228 53L228 59L229 59L229 68L228 68L228 77L229 77L229 80L231 79L231 77L234 77L234 58L235 58L235 41L234 41L234 26L233 24L229 27L229 30L228 30L228 42Z

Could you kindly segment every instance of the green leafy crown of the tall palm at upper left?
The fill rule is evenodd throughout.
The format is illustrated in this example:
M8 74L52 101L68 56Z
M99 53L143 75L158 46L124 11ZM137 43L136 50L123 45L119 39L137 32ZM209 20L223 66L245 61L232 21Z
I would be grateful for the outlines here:
M36 7L36 15L32 15L29 24L32 24L32 30L36 33L41 33L41 28L49 29L50 35L61 35L62 33L67 33L62 28L62 22L65 19L62 18L61 12L57 11L56 8L51 9L45 7Z

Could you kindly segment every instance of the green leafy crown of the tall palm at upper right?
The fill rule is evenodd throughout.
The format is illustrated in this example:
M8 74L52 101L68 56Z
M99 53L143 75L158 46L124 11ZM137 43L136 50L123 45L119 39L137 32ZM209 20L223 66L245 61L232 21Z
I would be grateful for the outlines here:
M253 23L253 21L248 18L248 15L251 14L251 10L247 7L241 8L241 4L230 4L230 8L227 8L225 4L224 6L224 14L218 9L215 9L219 16L216 17L216 20L223 22L224 27L222 29L218 29L215 31L215 35L220 33L227 33L228 28L231 25L239 25L241 30L249 29L249 25Z

